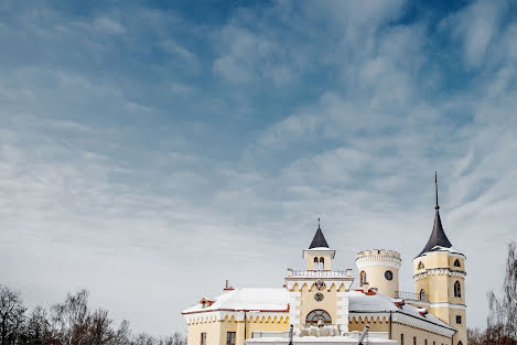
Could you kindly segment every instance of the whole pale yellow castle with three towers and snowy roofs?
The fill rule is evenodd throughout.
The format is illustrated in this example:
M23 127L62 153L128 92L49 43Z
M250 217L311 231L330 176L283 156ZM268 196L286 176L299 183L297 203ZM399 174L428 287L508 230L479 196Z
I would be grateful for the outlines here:
M283 288L226 287L183 311L187 345L466 345L465 256L443 230L434 182L434 225L413 259L414 293L399 291L400 254L385 249L356 255L352 289L352 269L333 270L336 251L319 225L302 251L305 269L288 269Z

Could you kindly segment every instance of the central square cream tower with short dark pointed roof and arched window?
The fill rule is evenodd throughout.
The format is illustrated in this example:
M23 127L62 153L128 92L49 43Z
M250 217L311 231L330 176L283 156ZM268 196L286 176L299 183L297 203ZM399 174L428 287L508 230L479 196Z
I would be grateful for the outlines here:
M289 323L295 328L315 326L321 320L325 325L336 326L341 331L348 330L348 298L345 292L354 278L351 269L331 269L334 256L335 250L328 248L317 224L309 249L303 250L306 269L288 269L286 277Z

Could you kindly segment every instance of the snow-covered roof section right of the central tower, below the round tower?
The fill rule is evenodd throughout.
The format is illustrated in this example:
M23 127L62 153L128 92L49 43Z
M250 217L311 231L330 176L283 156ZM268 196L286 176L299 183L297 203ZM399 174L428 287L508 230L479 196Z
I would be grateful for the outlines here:
M420 310L409 304L403 304L401 308L398 308L395 302L399 301L394 298L390 298L386 294L377 292L374 295L367 295L360 291L348 291L346 293L348 297L348 310L349 312L356 313L375 313L375 312L398 312L407 315L414 316L420 320L432 322L437 325L454 330L449 324L444 323L440 319L426 314L421 315Z

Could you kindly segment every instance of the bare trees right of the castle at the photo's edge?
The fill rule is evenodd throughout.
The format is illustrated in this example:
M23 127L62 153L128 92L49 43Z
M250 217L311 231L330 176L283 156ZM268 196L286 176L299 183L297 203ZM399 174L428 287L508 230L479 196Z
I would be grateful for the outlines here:
M468 345L517 345L517 252L508 245L503 295L488 292L486 330L468 328Z

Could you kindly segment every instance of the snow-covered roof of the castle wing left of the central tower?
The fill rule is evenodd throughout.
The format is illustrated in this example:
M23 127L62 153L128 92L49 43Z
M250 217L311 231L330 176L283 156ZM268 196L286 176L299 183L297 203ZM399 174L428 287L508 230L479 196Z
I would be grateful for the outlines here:
M225 311L288 311L289 293L284 288L239 288L216 297L212 305L202 303L189 308L182 314Z

